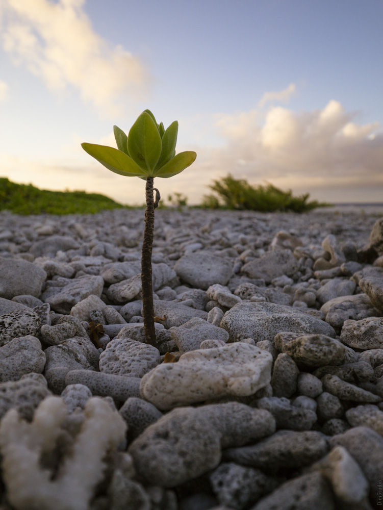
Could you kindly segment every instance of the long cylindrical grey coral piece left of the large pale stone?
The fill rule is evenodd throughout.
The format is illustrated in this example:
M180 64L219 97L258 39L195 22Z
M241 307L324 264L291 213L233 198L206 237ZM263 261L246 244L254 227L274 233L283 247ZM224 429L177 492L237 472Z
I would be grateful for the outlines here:
M83 369L70 370L65 375L65 385L81 384L87 386L92 395L111 396L118 402L124 402L129 397L139 397L140 382L138 377L121 377Z

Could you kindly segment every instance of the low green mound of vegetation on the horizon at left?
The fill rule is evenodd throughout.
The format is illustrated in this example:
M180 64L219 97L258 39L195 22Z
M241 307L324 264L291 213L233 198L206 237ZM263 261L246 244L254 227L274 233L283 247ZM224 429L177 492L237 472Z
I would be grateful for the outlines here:
M0 211L15 214L93 214L104 209L122 209L111 198L85 191L48 191L32 184L12 183L0 177Z

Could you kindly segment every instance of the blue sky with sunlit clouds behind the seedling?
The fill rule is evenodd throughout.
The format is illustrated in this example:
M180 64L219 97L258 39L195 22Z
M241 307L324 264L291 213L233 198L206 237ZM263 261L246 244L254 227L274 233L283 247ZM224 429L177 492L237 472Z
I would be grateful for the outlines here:
M382 0L0 0L0 176L144 202L82 142L145 110L192 166L330 202L383 202Z

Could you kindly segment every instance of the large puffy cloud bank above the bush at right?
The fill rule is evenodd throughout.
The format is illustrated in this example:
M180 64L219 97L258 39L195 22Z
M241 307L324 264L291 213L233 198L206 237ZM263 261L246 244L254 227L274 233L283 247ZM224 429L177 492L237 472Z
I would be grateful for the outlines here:
M326 190L339 192L342 187L361 193L366 186L375 187L381 196L383 133L378 122L361 124L356 117L336 100L312 111L273 106L266 112L216 116L214 126L225 144L196 148L194 172L204 181L210 171L211 179L232 173L252 184L268 181L320 199ZM190 185L189 193L196 192Z

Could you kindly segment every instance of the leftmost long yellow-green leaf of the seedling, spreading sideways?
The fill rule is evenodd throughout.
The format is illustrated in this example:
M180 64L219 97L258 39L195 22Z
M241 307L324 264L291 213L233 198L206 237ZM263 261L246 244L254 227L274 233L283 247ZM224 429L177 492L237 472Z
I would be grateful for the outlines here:
M136 163L121 150L107 145L95 143L82 143L81 146L90 156L99 161L108 170L128 177L143 177L146 179L147 172L142 170Z

